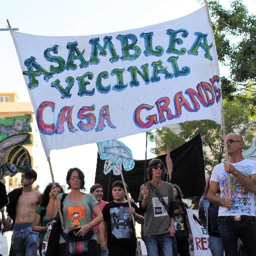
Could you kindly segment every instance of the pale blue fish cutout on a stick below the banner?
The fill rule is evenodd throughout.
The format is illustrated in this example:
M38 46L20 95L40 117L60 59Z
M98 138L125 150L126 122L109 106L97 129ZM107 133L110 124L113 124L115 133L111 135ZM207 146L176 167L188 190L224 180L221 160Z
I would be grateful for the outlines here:
M135 163L131 150L117 139L110 139L97 142L100 159L109 159L113 164L122 163L124 170L131 170Z

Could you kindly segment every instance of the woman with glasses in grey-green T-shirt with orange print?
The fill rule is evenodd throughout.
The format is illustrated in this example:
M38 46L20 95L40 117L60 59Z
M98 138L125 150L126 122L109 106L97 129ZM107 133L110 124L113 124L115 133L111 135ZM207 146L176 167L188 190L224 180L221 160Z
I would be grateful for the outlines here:
M66 183L71 191L65 196L62 206L62 217L64 223L64 234L59 238L59 256L68 255L66 251L70 251L62 236L65 236L70 230L79 228L75 236L85 236L94 226L98 225L103 217L98 206L98 201L90 193L82 192L84 188L84 174L78 168L71 168L66 174ZM57 215L56 197L61 200L63 194L58 194L56 186L52 186L48 206L47 216L53 219ZM92 213L95 218L92 219ZM96 256L97 255L97 238L93 234L92 238L87 242L87 251L79 255Z

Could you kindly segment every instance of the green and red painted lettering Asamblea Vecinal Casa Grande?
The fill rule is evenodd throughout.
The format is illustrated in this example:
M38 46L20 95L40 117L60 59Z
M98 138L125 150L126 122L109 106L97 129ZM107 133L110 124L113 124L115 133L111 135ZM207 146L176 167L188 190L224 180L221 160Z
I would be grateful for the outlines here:
M77 41L67 42L66 49L68 52L66 54L66 60L63 56L58 55L59 45L55 44L50 48L46 48L43 53L44 58L49 61L48 67L42 66L34 56L30 56L24 61L27 70L22 71L22 73L28 77L29 82L27 86L32 90L39 86L37 76L42 75L43 79L48 82L55 74L64 73L65 70L76 70L78 68L76 63L79 63L79 68L84 68L85 72L81 76L75 76L75 79L78 85L77 95L83 97L93 96L96 91L102 94L107 94L110 90L122 93L128 85L130 87L140 86L140 81L143 81L144 84L149 84L150 82L160 82L161 79L167 80L175 79L179 76L186 76L190 73L190 67L179 67L178 65L178 59L182 55L186 55L187 57L188 55L197 56L198 54L203 54L204 59L207 59L208 61L212 60L210 54L212 43L208 44L207 34L205 33L194 32L194 40L188 50L185 47L177 47L183 43L182 38L188 36L188 31L186 29L166 30L166 38L168 39L167 49L164 49L161 45L154 46L153 35L153 32L142 32L139 34L144 43L143 49L141 49L141 44L138 46L138 38L132 33L125 35L118 34L115 39L112 39L112 36L104 36L102 45L99 42L99 37L91 38L88 41L91 45L91 51L87 59L84 56L85 49L79 48ZM113 41L114 43L119 43L121 52L116 51ZM117 61L130 61L130 63L134 64L128 66L126 70L125 68L114 68L108 72L98 68L99 71L97 73L92 73L91 71L86 70L89 69L90 65L100 66L99 55L106 57L107 50L108 56L111 56L108 59L109 65ZM142 55L145 57L155 56L158 58L158 61L152 61L150 63L145 61L145 63L140 64L140 67L138 67L136 65L136 60ZM167 61L169 64L164 66L164 61ZM151 68L149 68L149 64ZM130 75L129 82L124 81L124 74L127 72ZM115 77L116 83L107 84L109 74ZM138 80L138 76L140 76L140 81ZM72 96L70 90L74 86L75 79L73 76L67 76L65 77L65 82L67 84L61 85L59 79L56 78L50 83L50 86L57 89L61 99L65 100ZM166 119L178 118L181 115L182 106L190 112L198 111L200 106L208 107L214 102L218 102L220 99L221 91L219 88L220 86L217 86L218 82L219 77L213 75L212 77L209 77L209 82L199 81L196 90L192 88L187 88L185 91L179 90L174 96L165 95L158 98L153 105L143 102L134 109L133 121L139 128L148 128L158 122L164 122ZM173 103L170 103L171 97ZM173 113L169 108L170 104L174 105L175 112ZM101 131L105 125L108 125L111 128L115 128L117 125L111 121L111 109L109 109L109 105L103 105L98 114L93 113L95 109L94 104L81 106L76 113L77 118L79 119L78 123L76 123L78 129L74 127L71 121L73 106L64 105L58 110L59 113L56 123L50 124L45 123L43 119L43 112L46 107L50 107L51 111L54 112L55 103L45 100L36 110L36 119L39 130L43 134L61 134L64 131L65 122L67 123L70 132L75 132L78 129L82 131L89 131L92 129ZM148 113L145 120L140 118L140 113L142 111ZM98 120L96 120L96 116L98 116Z

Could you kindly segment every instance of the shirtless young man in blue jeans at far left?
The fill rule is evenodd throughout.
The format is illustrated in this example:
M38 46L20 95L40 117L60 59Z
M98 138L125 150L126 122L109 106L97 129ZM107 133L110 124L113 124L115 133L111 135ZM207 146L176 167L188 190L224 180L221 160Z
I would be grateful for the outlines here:
M34 170L21 175L22 188L16 188L8 194L8 215L2 211L2 222L7 226L13 220L12 249L16 256L31 256L37 253L38 233L31 225L36 207L41 200L41 193L32 188L37 174Z

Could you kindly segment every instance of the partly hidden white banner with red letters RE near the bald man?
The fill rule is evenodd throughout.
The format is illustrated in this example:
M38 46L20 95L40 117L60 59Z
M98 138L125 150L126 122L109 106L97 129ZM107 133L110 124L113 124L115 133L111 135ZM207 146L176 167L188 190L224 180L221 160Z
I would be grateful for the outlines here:
M198 219L198 210L186 209L193 235L194 256L211 256L208 247L208 232Z

